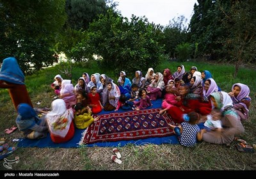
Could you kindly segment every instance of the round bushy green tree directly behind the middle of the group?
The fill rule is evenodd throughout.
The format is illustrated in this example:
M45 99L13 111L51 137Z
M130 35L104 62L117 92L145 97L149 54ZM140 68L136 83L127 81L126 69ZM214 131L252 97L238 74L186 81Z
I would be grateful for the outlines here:
M88 38L80 43L80 49L84 47L84 51L102 57L99 65L113 69L116 74L122 70L131 74L136 70L147 72L148 66L154 68L164 58L163 45L159 44L162 33L157 27L145 17L132 15L129 22L108 10L90 24Z

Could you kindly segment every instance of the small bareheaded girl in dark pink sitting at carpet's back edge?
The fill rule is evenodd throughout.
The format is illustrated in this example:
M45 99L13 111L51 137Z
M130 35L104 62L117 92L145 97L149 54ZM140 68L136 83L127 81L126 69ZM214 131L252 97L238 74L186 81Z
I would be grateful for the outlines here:
M135 108L133 110L145 109L146 107L152 106L150 98L147 95L146 89L140 89L139 91L140 101L134 101Z

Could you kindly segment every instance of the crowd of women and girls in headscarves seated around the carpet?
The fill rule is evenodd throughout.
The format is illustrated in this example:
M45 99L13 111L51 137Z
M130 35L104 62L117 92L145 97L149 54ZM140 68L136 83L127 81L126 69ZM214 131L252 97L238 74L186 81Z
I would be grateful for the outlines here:
M88 127L97 120L92 115L100 113L103 109L105 111L117 111L120 107L145 109L157 98L163 99L159 114L167 113L175 123L186 121L184 114L191 112L200 115L198 122L202 123L213 108L220 109L224 132L211 130L202 133L202 139L209 143L231 143L235 135L244 131L241 120L248 119L250 107L248 86L236 83L230 93L220 91L211 73L207 70L200 73L196 66L192 66L191 70L186 72L184 65L179 65L177 72L173 74L168 68L163 70L163 74L148 68L145 77L138 70L132 81L122 71L116 83L106 74L92 74L90 80L88 74L84 73L83 76L86 79L79 77L74 87L70 81L56 75L56 82L52 87L60 87L54 88L59 98L52 101L52 111L42 119L38 119L32 108L28 110L34 110L33 113L26 117L18 108L17 124L19 123L18 126L26 137L31 139L44 137L45 125L47 125L52 141L65 142L74 136L74 125L77 128ZM20 107L24 109L23 105ZM33 118L34 121L24 122L25 118ZM81 124L83 118L84 125ZM26 123L31 127L24 127ZM30 130L38 133L28 135Z

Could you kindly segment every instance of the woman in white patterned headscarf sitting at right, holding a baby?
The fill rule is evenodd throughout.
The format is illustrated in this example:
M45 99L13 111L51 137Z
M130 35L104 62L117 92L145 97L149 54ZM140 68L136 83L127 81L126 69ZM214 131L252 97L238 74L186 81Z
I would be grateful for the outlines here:
M222 111L221 123L222 132L211 130L203 134L203 140L214 144L230 144L235 135L244 132L244 127L240 121L239 115L234 109L233 101L224 91L215 91L211 93L212 104L215 108Z

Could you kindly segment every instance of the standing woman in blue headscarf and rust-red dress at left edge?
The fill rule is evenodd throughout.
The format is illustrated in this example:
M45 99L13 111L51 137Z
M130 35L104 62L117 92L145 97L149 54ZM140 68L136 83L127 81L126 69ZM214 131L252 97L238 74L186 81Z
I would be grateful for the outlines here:
M8 89L16 111L20 103L33 107L24 81L25 77L17 60L13 57L4 59L0 70L0 88Z

